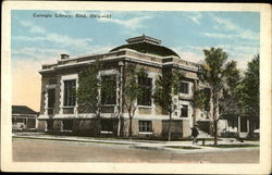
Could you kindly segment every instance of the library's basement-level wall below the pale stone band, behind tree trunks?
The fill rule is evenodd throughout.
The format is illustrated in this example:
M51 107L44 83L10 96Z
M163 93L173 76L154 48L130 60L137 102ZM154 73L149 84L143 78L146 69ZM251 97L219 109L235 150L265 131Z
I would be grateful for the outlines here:
M141 121L141 120L140 120ZM84 136L97 136L97 121L92 120L78 120L74 118L73 121L73 129L71 130L74 135L84 135ZM109 126L109 122L110 125ZM104 125L108 124L108 127ZM108 130L102 130L103 135L109 135L116 137L118 136L118 125L119 121L116 118L103 118L101 120L101 128L106 128ZM150 132L139 132L139 120L133 118L132 120L132 130L133 137L144 137L144 138L166 138L168 137L168 128L169 128L169 121L161 121L161 120L152 120L151 121L151 130ZM172 121L172 138L184 138L190 136L190 126L189 121ZM53 128L51 132L53 133L61 133L61 132L70 132L63 130L63 121L62 120L54 120L53 121ZM47 121L39 121L38 122L38 132L50 132L47 128ZM123 118L121 121L121 137L128 137L129 136L129 120Z

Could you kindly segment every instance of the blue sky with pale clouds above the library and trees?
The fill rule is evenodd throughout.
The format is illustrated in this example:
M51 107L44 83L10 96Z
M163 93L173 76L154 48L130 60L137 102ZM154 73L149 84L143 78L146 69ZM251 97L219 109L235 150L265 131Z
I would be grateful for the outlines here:
M34 17L51 14L52 17ZM70 14L71 18L54 17ZM81 14L111 14L106 17L75 17ZM27 71L35 75L41 64L54 63L61 53L72 58L108 52L125 39L148 35L182 59L203 60L203 49L220 47L246 70L247 62L260 50L259 12L188 11L12 11L11 60L13 78ZM34 77L33 77L34 78ZM24 82L24 80L22 80ZM14 84L17 84L14 82ZM15 89L14 89L15 90ZM38 91L38 90L37 90Z

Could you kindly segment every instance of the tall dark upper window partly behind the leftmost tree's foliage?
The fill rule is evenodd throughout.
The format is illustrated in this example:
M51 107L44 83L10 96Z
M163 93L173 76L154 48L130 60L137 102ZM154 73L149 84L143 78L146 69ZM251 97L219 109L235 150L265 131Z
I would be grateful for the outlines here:
M116 77L102 76L101 103L116 104Z

